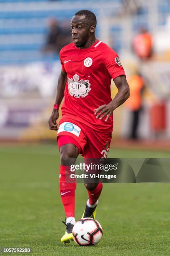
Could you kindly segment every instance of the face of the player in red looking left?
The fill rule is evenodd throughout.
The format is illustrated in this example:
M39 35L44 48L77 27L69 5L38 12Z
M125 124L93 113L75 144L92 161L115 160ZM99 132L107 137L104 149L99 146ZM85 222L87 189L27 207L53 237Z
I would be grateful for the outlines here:
M84 15L73 16L71 20L71 33L73 43L77 47L83 47L92 33L92 26L88 24Z

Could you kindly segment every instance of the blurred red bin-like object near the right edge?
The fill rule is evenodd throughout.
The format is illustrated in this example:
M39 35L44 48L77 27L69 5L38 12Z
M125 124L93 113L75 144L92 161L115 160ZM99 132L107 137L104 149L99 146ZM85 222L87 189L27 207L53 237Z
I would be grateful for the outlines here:
M150 128L154 132L160 132L165 131L166 127L166 105L164 102L157 103L150 109Z

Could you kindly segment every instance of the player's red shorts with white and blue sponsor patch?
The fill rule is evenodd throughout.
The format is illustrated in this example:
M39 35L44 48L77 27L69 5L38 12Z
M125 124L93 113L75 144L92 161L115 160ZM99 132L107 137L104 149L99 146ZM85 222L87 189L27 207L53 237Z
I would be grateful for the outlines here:
M112 133L110 132L102 133L83 123L68 120L68 122L60 123L57 138L62 135L71 136L76 140L80 145L80 154L84 158L107 157L112 138Z

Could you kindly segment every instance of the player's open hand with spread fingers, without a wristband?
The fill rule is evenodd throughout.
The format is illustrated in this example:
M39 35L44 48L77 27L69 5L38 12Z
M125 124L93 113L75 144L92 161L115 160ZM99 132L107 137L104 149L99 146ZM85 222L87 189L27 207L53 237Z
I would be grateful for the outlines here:
M100 119L102 120L102 118L104 118L106 115L106 119L105 122L107 122L107 120L109 119L110 115L113 113L113 106L111 103L107 104L107 105L102 105L99 108L96 108L95 111L95 115L96 115L96 119Z

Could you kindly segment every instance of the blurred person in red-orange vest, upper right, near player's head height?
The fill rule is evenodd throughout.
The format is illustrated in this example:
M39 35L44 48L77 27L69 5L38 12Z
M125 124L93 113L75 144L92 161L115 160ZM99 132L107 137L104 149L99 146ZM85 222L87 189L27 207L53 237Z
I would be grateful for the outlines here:
M140 59L149 59L152 56L153 38L145 28L141 28L140 33L135 36L133 51Z

